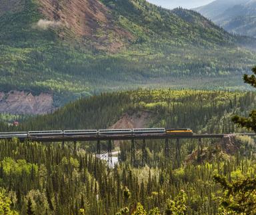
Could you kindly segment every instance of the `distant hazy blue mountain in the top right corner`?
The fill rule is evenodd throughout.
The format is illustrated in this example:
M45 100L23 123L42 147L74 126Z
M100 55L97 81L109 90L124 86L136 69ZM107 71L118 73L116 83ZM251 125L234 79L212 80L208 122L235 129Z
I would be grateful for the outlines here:
M225 30L256 37L256 1L214 1L195 9Z

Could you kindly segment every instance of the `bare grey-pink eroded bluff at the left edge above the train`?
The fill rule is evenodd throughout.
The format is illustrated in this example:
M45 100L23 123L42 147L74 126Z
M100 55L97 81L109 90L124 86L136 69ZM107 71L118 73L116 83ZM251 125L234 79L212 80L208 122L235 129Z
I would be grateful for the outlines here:
M53 97L46 93L34 96L24 91L0 92L0 112L11 114L45 114L53 110Z

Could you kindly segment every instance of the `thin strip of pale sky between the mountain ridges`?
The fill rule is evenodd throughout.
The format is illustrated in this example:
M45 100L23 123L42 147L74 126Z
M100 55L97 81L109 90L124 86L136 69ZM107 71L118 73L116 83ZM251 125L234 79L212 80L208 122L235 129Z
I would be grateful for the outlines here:
M207 5L213 0L147 0L147 1L155 5L160 5L162 7L166 7L169 9L173 9L179 6L183 8L191 9L193 7Z

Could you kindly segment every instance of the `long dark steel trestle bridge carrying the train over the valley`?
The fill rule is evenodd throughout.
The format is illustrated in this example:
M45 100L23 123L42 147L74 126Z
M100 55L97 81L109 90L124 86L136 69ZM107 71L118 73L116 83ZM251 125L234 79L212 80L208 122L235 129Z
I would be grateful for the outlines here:
M146 161L146 140L165 140L165 160L169 157L170 140L175 140L175 159L181 158L181 142L182 139L197 139L198 152L203 150L202 139L221 139L227 136L256 136L255 133L237 133L237 134L101 134L101 135L72 135L72 136L31 136L30 138L22 136L8 136L0 139L19 138L21 141L31 140L37 142L61 142L64 148L65 142L73 142L74 153L77 151L77 142L96 142L95 156L107 160L109 166L112 166L112 147L113 141L129 140L131 141L131 165L144 166ZM107 142L103 147L102 142Z

